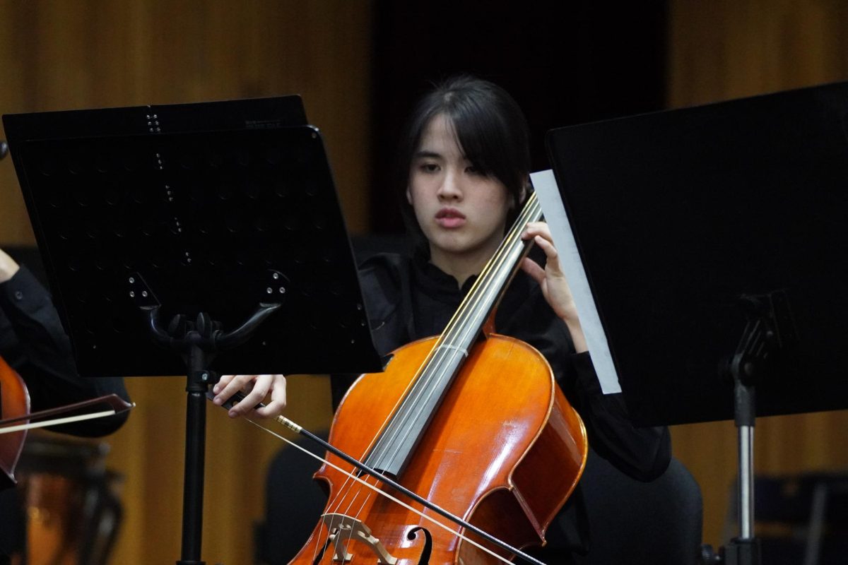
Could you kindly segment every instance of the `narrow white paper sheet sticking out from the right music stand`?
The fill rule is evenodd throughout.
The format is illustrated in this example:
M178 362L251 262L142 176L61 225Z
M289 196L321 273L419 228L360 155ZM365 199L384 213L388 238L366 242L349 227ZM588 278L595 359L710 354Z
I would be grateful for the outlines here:
M538 195L538 202L542 205L544 219L550 225L556 251L560 254L562 271L566 274L568 285L572 289L577 315L580 316L580 324L583 325L583 333L586 335L586 344L589 346L594 370L600 380L600 389L604 394L621 392L622 386L618 382L616 367L612 363L610 346L606 342L604 329L600 325L598 309L594 304L583 262L577 252L577 242L574 241L572 226L566 216L566 208L562 205L554 171L547 169L531 173L530 180Z

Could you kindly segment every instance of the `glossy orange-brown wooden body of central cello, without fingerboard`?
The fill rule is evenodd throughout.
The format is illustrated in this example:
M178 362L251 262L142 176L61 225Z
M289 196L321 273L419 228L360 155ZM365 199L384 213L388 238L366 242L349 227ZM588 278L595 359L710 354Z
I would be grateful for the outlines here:
M401 347L386 372L362 375L338 408L330 443L349 454L368 451L435 341ZM583 472L587 442L583 422L544 357L522 341L489 335L471 350L415 451L401 484L511 546L525 547L544 544L545 529ZM350 470L332 455L329 461ZM417 526L432 534L431 563L499 562L395 502L351 485L326 464L315 478L330 491L326 512L355 513L399 565L420 562L421 536L408 537ZM460 529L424 513L454 532ZM326 525L318 523L292 563L333 562L332 548L315 561L327 545ZM346 551L359 557L354 562L378 562L367 544L352 541Z

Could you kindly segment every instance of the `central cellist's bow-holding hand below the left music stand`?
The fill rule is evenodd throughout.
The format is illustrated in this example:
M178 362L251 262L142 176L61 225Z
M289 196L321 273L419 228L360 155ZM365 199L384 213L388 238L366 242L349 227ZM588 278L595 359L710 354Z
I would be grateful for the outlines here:
M230 399L232 395L242 391L244 399L230 408L230 418L238 418L247 413L254 413L261 418L276 418L286 407L286 377L282 374L225 374L212 389L217 405ZM271 399L265 407L253 407L265 401L265 396Z

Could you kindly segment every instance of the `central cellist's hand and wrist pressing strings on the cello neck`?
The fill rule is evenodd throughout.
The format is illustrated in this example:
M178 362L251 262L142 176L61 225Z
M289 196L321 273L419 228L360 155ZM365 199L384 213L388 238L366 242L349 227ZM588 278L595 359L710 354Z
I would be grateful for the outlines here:
M531 222L527 224L522 239L533 239L542 251L544 251L544 269L533 259L525 258L522 262L522 270L533 277L542 288L544 299L548 301L554 313L559 316L568 326L572 334L574 349L579 352L587 351L586 338L583 335L583 326L577 318L577 306L574 304L572 290L568 286L566 275L562 272L560 256L554 246L554 239L550 235L550 228L544 222Z

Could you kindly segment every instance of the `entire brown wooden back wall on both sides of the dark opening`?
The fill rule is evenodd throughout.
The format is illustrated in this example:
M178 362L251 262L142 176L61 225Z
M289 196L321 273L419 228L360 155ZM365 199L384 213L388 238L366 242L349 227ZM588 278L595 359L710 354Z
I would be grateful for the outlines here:
M672 0L672 108L848 79L848 8L836 0ZM366 0L0 0L0 113L232 97L304 95L323 130L349 226L364 231L371 162ZM2 137L2 131L0 131ZM31 243L14 171L0 164L0 245ZM329 418L321 378L290 379L292 416ZM109 438L125 476L126 521L114 562L173 562L179 552L183 379L130 379L138 403ZM209 413L204 558L250 562L276 440ZM764 418L756 468L844 469L848 414ZM704 490L705 538L721 541L735 473L730 423L673 430Z

